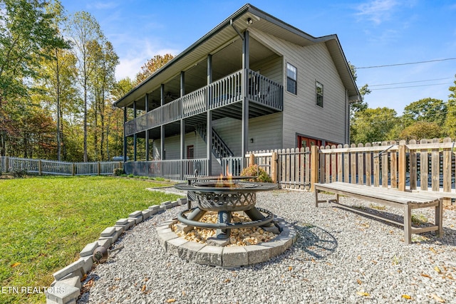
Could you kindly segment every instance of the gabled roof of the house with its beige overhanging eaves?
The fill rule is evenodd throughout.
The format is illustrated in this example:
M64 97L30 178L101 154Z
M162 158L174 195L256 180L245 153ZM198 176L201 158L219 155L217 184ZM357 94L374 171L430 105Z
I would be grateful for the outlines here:
M247 19L254 20L254 23L248 24ZM138 100L146 93L150 93L151 85L156 87L157 84L165 83L167 80L180 74L182 70L187 70L195 63L206 57L207 54L213 53L221 44L230 41L234 36L242 33L248 27L258 28L273 36L280 37L299 46L310 46L314 43L325 43L331 58L333 58L336 69L341 77L342 83L348 90L350 101L360 100L360 93L356 86L348 62L343 53L341 43L338 41L336 34L322 37L314 37L294 26L285 23L276 17L257 9L252 4L245 4L234 12L227 19L215 26L206 35L199 38L195 43L167 62L159 70L135 86L126 95L117 100L114 105L121 108L131 105L134 100Z

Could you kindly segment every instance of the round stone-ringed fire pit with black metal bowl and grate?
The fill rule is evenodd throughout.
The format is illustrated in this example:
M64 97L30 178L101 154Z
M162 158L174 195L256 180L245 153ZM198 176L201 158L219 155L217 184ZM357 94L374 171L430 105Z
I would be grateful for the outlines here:
M249 177L195 177L186 190L188 209L157 227L163 248L175 256L211 266L245 266L269 261L296 241L296 231L270 211L257 208L257 192L276 184ZM195 201L195 207L192 207Z

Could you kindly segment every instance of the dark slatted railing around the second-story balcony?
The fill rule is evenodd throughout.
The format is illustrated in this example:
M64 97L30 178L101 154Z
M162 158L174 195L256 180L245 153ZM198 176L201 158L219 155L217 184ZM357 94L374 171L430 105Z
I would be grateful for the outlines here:
M172 102L155 108L134 120L125 122L125 136L134 135L181 118L198 115L207 110L222 108L242 101L242 70L219 79ZM245 94L249 100L268 108L283 109L282 86L253 70L247 70Z

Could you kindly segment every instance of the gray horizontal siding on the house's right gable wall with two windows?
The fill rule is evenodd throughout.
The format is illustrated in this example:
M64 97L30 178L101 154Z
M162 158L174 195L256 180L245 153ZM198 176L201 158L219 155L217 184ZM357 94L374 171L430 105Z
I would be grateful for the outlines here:
M283 146L296 145L296 133L317 139L346 140L346 89L325 43L297 46L261 31L252 36L283 54ZM286 90L286 63L297 68L297 95ZM315 104L315 82L323 84L323 108Z

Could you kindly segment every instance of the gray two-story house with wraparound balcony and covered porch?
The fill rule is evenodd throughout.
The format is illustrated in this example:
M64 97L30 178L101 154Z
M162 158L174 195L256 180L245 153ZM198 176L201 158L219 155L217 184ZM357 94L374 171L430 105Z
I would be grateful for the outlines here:
M124 155L127 137L135 151L125 170L183 179L248 151L343 144L359 99L336 35L310 36L246 4L115 102L134 112L124 115Z

